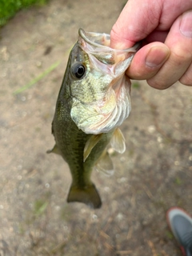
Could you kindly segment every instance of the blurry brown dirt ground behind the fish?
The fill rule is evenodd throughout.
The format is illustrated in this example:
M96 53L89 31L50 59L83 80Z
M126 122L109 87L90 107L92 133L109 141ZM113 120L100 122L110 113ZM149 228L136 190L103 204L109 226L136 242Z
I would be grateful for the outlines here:
M78 28L109 33L124 4L53 0L19 12L0 31L1 256L181 255L166 210L181 206L192 214L191 87L159 91L133 82L132 111L122 125L126 152L114 154L113 176L93 173L99 210L66 202L69 168L46 154Z

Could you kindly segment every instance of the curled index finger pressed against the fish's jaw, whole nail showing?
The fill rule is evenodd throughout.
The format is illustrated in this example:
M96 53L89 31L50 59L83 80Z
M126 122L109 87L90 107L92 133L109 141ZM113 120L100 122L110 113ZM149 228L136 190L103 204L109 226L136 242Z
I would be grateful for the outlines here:
M169 48L162 42L153 42L143 46L134 55L126 74L131 79L152 78L170 56Z

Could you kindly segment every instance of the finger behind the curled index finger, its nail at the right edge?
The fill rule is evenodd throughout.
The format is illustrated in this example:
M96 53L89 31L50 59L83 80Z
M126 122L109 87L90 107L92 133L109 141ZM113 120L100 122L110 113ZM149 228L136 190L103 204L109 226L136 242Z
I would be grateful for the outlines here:
M172 86L190 67L192 62L192 10L182 14L174 22L165 44L170 48L170 57L158 73L147 80L150 86L160 90Z

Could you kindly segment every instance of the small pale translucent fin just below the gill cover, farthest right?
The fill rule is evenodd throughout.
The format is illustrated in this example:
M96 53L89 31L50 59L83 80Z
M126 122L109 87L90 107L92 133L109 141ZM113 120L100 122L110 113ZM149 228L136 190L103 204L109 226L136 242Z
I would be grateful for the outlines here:
M122 131L117 128L114 131L114 135L110 140L110 145L114 148L115 151L117 151L118 153L124 153L126 150L126 142L125 142L125 138L122 134Z

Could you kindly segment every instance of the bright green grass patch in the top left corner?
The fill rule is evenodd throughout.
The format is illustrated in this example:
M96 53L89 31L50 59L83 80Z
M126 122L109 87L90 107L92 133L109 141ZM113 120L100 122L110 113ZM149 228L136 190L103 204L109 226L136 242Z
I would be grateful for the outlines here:
M42 6L46 2L48 0L0 0L0 26L5 25L10 18L14 17L18 10L32 5Z

